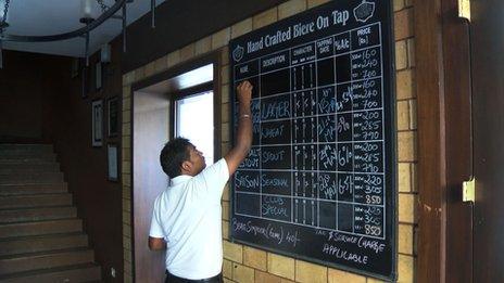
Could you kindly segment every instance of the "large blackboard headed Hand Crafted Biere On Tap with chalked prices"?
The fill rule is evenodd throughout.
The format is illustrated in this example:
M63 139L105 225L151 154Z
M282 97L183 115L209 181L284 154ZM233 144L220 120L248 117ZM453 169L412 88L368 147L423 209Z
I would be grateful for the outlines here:
M231 179L232 241L395 279L390 1L331 1L231 40L253 144Z

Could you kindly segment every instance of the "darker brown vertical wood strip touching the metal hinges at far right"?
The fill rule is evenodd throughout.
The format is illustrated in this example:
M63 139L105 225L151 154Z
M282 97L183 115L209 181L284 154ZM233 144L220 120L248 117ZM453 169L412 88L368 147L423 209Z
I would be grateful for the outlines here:
M446 110L446 282L472 282L472 206L462 183L472 175L471 79L468 22L457 0L443 0Z

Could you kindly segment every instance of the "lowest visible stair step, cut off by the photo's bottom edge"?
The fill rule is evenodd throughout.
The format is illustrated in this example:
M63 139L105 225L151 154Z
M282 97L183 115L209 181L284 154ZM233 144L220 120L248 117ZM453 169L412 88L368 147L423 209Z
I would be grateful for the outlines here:
M14 273L1 278L2 283L74 283L74 282L101 282L100 266L85 263L64 268L34 270L29 272Z

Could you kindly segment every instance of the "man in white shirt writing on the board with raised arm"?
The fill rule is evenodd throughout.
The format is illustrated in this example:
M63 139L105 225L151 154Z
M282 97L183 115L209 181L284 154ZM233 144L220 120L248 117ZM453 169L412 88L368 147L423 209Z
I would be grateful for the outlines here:
M220 197L252 144L251 97L249 81L238 85L236 144L217 163L205 168L202 153L182 138L161 151L171 183L154 202L149 248L167 249L165 282L223 282Z

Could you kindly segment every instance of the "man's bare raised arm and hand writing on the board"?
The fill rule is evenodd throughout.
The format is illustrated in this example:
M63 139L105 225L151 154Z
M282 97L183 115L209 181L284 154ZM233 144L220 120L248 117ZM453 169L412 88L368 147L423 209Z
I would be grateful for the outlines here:
M235 146L224 156L229 168L229 175L235 173L238 166L247 157L252 145L252 114L250 103L252 85L244 80L237 87L238 98L238 130Z

